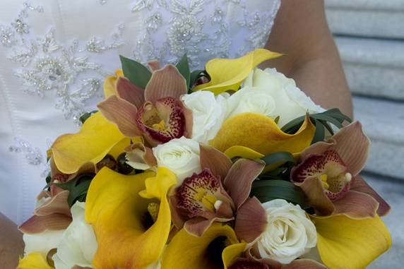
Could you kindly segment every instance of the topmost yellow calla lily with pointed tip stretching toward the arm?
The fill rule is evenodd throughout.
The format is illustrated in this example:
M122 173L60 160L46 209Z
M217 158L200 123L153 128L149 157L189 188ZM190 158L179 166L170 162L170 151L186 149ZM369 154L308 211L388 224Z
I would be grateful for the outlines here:
M268 49L256 49L237 59L212 59L206 64L210 81L196 86L194 90L210 90L215 95L226 90L238 90L253 68L263 61L282 55Z

